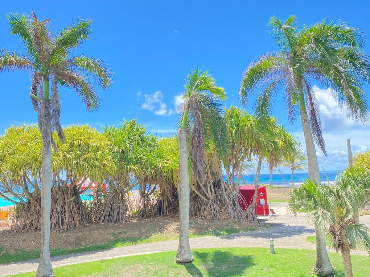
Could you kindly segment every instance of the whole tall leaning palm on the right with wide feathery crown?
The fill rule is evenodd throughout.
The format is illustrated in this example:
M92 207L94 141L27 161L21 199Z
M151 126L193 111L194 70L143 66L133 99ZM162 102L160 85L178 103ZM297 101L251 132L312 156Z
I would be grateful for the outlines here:
M285 92L289 121L294 122L300 113L309 178L320 184L314 139L325 155L326 150L310 79L326 86L348 116L367 122L369 109L362 84L370 83L370 59L361 51L364 39L360 30L332 20L299 27L294 16L285 22L272 17L269 24L280 49L250 64L243 74L239 97L245 105L250 94L262 88L255 113L264 122L277 93ZM317 243L316 272L330 275L332 267L324 246L324 241Z

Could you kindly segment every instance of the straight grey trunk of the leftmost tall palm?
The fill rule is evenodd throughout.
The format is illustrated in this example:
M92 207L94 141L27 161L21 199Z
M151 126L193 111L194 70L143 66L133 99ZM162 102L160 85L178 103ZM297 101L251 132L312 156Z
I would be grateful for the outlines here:
M51 209L51 111L49 101L49 82L44 80L45 110L41 111L46 120L41 127L47 136L48 142L43 141L41 161L41 253L37 267L37 277L54 276L50 260L50 209ZM41 130L42 132L42 130Z

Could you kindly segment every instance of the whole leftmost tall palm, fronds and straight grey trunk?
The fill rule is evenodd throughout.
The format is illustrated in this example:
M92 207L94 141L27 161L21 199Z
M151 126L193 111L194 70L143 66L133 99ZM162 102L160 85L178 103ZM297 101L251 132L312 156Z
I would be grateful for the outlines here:
M99 98L90 79L103 89L112 85L112 71L101 59L87 55L70 55L71 51L89 39L91 20L80 20L53 35L50 19L38 20L34 11L29 17L8 14L11 34L17 35L26 47L26 54L0 51L0 72L25 70L32 76L31 102L38 113L42 148L42 218L41 254L37 276L52 276L50 262L50 207L51 207L51 145L55 144L51 130L55 128L64 141L60 125L60 98L58 85L73 88L88 110L99 107ZM49 83L51 78L51 93Z

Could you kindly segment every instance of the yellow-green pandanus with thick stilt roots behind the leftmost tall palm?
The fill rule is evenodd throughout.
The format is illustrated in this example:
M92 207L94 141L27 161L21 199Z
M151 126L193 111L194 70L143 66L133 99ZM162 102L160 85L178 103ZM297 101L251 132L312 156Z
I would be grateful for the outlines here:
M72 229L89 222L80 199L81 185L88 180L101 184L113 168L109 141L97 130L70 126L63 131L65 141L61 143L56 138L58 151L52 154L50 228L53 230ZM0 137L0 196L17 202L12 230L41 229L41 153L41 134L36 125L11 126ZM14 198L4 195L4 191Z

